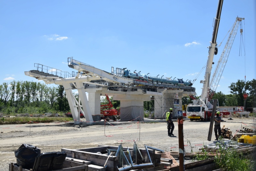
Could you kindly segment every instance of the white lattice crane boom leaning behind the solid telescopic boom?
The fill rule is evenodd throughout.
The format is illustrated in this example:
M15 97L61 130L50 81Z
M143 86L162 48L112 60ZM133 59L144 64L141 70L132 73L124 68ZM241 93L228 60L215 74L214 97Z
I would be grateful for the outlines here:
M223 70L225 68L225 65L228 61L228 55L229 55L229 52L231 50L231 47L232 47L232 44L235 40L235 37L236 37L236 33L237 33L237 29L238 29L238 26L239 26L239 23L242 22L244 18L239 18L239 17L236 17L236 21L231 29L231 32L228 36L228 41L220 55L220 59L218 61L218 64L213 72L213 75L212 75L212 79L211 79L211 82L210 82L210 94L209 94L209 100L212 99L212 96L214 95L217 87L218 87L218 84L220 82L220 77L223 73ZM243 34L243 29L240 29L240 33Z

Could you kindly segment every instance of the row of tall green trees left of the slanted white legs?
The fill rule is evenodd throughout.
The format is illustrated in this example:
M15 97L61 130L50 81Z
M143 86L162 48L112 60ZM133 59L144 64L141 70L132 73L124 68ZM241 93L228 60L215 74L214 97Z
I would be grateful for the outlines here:
M12 81L0 85L0 111L11 113L47 113L69 111L64 87L41 82Z

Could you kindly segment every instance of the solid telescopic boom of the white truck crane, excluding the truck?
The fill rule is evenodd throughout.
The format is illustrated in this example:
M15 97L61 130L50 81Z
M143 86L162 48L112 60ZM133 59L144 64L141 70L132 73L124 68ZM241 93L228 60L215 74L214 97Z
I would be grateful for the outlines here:
M210 103L208 103L208 97L209 97L209 84L210 84L210 75L212 71L212 61L213 61L213 56L214 54L216 55L218 53L217 49L217 34L218 34L218 29L219 29L219 24L220 24L220 14L221 14L221 9L222 9L222 4L223 0L219 1L218 4L218 9L216 13L216 18L214 21L214 28L212 32L212 42L210 42L209 48L209 55L208 55L208 60L207 60L207 65L206 65L206 71L204 75L204 80L201 80L200 83L203 83L203 89L202 89L202 94L200 97L200 105L207 105L209 106Z

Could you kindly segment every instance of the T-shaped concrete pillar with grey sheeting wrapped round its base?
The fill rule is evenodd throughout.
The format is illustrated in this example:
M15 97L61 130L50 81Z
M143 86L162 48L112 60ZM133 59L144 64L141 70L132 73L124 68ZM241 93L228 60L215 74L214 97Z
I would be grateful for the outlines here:
M114 100L120 100L120 120L144 120L144 101L150 100L150 95L113 95Z

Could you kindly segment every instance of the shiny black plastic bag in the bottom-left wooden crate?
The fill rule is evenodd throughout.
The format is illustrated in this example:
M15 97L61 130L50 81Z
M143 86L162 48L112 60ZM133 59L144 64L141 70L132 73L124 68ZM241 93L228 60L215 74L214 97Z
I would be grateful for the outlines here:
M30 144L22 144L14 153L17 159L17 165L25 169L32 169L35 159L41 153L41 150Z

